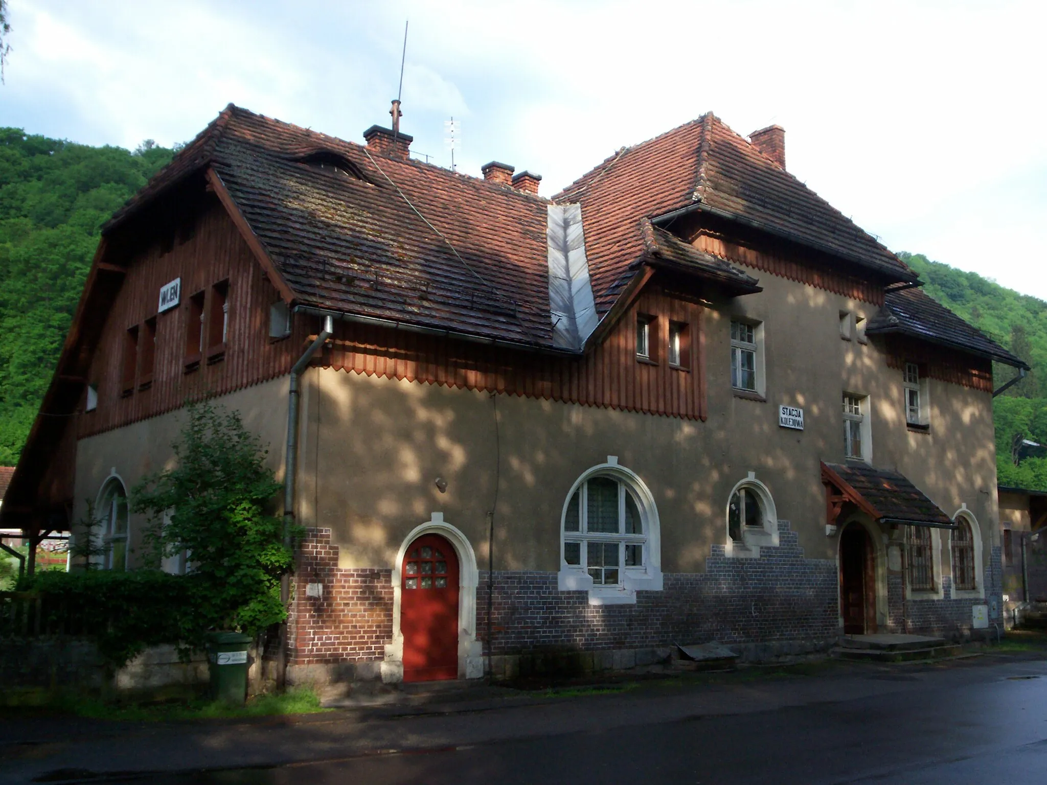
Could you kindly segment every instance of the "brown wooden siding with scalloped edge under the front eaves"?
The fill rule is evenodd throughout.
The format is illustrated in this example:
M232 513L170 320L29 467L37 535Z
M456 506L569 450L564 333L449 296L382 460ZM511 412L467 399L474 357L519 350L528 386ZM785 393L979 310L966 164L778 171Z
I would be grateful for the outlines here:
M699 305L648 289L584 357L516 352L341 321L322 364L366 376L705 420L703 311ZM656 360L651 363L637 359L639 313L655 317ZM689 326L689 368L668 364L670 321Z

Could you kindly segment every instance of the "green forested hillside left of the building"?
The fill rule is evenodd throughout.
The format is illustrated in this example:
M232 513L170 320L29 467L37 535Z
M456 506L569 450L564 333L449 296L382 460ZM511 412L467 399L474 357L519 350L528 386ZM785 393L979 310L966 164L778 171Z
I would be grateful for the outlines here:
M14 465L69 329L98 228L172 151L0 129L0 465Z

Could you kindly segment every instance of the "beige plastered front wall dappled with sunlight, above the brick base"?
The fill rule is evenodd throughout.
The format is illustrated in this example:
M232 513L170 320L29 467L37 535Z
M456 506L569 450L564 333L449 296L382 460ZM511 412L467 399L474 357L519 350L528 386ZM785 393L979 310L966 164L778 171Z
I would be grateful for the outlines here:
M616 455L654 495L666 573L705 568L726 541L730 491L750 471L805 555L834 559L819 462L844 461L848 390L869 396L873 465L903 472L949 515L966 503L987 554L998 541L990 397L932 379L930 432L907 429L901 374L882 344L840 337L841 310L869 318L874 307L760 277L762 293L714 304L706 320L706 423L310 369L299 520L332 530L340 566L391 566L402 538L442 512L484 568L497 475L494 568L555 571L566 494ZM731 391L732 315L764 323L766 402ZM803 407L803 431L778 426L779 404Z

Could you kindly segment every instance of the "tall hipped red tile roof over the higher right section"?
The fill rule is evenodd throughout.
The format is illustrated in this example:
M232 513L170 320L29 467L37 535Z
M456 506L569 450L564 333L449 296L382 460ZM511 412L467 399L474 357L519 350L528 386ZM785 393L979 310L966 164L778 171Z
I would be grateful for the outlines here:
M826 251L885 282L916 279L875 238L712 113L623 148L554 200L581 202L601 310L614 304L644 250L640 220L692 206Z

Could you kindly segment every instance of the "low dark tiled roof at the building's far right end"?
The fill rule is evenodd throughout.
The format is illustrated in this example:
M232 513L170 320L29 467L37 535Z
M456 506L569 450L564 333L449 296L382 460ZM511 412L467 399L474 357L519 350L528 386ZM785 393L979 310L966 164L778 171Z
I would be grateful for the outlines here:
M883 309L869 320L866 333L899 333L988 357L1006 365L1029 367L1024 360L919 289L887 292Z

